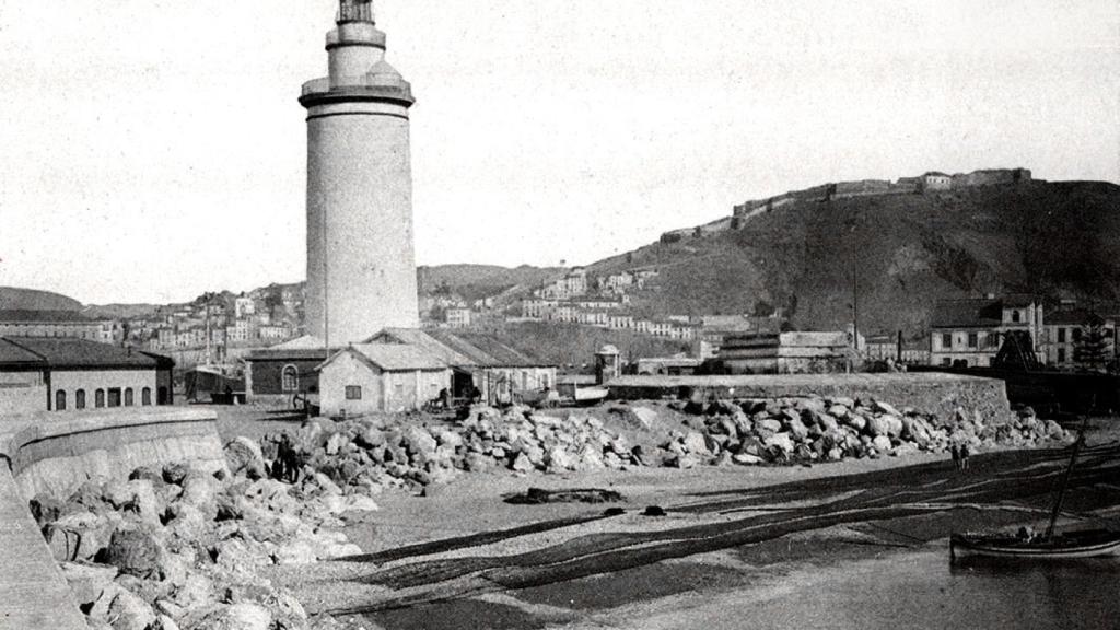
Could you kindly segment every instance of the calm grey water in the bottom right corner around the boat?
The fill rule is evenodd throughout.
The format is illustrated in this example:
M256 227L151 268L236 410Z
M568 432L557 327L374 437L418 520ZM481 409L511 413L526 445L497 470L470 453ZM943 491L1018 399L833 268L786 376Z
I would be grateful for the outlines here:
M951 568L948 549L922 552L829 571L750 608L745 628L1118 629L1120 559Z

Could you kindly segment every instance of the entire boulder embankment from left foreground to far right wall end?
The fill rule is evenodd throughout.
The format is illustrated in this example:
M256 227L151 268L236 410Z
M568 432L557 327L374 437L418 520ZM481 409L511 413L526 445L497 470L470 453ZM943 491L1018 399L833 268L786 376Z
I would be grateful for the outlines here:
M230 474L140 467L128 480L87 482L66 499L36 497L31 509L92 628L318 629L336 626L309 619L260 569L362 553L340 530L373 520L374 498L385 490L422 490L480 471L777 465L937 453L954 442L980 450L1070 438L1033 414L939 418L874 400L673 407L671 420L659 418L669 409L629 405L598 409L604 417L476 408L458 421L312 419L288 436L296 483L269 474L282 458L279 435L262 444L240 437L225 446Z

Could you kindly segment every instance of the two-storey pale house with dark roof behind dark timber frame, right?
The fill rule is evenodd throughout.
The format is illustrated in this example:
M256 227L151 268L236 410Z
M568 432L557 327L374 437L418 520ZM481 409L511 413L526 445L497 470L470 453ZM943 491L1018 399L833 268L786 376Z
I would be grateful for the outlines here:
M1044 360L1043 304L1035 296L1011 295L937 302L931 321L930 362L934 365L990 365L1002 333L1030 334L1033 351Z

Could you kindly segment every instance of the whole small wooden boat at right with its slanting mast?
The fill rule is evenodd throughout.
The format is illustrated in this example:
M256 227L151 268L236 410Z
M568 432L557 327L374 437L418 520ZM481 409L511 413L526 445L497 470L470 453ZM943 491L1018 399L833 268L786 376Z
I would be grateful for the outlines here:
M1120 553L1120 531L1109 529L1083 529L1058 534L1054 530L1057 518L1062 513L1062 500L1070 485L1070 475L1077 463L1077 454L1085 442L1088 416L1077 432L1077 442L1073 445L1070 464L1065 469L1057 499L1051 512L1049 526L1046 532L1035 536L1021 529L1018 535L1007 534L953 534L949 538L949 556L952 559L967 556L991 558L1019 558L1028 560L1054 560L1065 558L1092 558L1111 556Z

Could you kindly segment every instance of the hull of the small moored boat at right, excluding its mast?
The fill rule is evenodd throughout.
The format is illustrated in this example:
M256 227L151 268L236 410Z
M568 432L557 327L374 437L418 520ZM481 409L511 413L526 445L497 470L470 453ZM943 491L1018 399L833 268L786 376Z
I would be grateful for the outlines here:
M1086 529L1057 534L1048 539L1045 536L954 534L949 539L949 553L954 559L969 556L1039 560L1111 556L1120 553L1120 531Z

